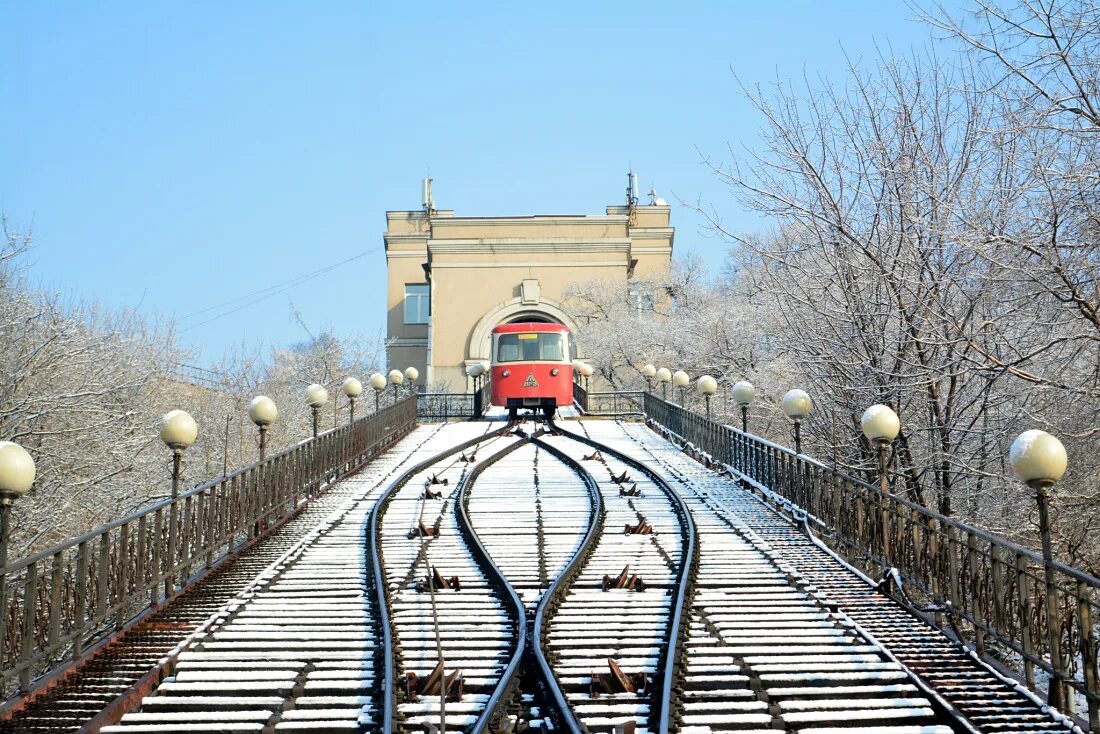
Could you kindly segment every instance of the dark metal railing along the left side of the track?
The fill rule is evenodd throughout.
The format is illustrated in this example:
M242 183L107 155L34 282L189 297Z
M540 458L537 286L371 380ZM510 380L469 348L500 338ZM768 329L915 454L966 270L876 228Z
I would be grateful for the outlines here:
M416 401L399 401L0 569L3 698L161 606L279 525L322 484L407 435L416 418Z

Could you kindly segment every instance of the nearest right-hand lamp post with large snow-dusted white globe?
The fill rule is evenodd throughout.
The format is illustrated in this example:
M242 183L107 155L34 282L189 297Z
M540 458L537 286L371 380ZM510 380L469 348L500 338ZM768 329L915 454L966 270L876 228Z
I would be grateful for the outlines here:
M1067 711L1069 702L1066 671L1062 659L1062 624L1058 614L1058 591L1055 585L1054 551L1050 548L1050 517L1047 506L1050 487L1066 473L1066 448L1057 438L1043 430L1025 430L1012 441L1009 449L1012 471L1035 491L1038 503L1038 533L1043 544L1043 578L1046 585L1046 635L1050 648L1050 666L1054 677L1047 693L1047 702L1062 711Z

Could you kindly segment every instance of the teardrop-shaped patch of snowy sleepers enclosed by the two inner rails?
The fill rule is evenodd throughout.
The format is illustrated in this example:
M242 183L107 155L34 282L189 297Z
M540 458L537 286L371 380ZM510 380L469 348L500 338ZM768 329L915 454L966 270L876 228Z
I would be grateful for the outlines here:
M482 545L528 611L576 552L591 512L582 479L536 443L485 469L468 507Z

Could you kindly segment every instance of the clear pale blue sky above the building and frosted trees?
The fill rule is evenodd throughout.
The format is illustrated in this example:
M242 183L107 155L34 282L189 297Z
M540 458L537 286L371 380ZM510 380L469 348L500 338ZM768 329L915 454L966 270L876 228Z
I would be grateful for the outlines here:
M301 339L292 303L312 329L377 333L385 211L417 208L429 171L460 216L598 213L632 166L644 191L766 227L697 152L757 142L732 69L840 79L844 51L930 39L904 3L857 0L0 0L0 208L33 229L31 277L178 319L200 363ZM721 263L695 215L673 224L679 252Z

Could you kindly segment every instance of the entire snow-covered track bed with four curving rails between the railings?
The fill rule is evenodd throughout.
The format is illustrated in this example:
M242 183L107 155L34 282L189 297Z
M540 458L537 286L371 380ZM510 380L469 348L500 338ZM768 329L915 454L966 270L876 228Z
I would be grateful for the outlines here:
M242 569L103 731L976 731L914 675L935 640L891 651L883 598L645 427L414 436Z

